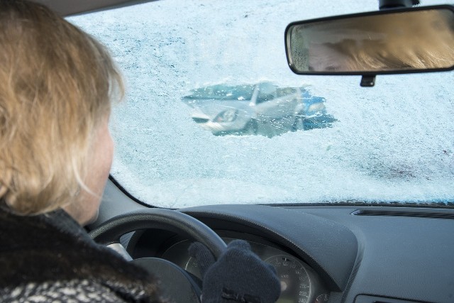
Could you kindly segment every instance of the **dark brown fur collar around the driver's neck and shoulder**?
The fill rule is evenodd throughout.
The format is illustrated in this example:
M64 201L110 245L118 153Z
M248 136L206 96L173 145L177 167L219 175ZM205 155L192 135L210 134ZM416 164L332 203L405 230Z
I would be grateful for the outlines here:
M157 297L153 277L94 243L62 209L17 216L0 206L0 268L0 288L89 279L123 292L126 299L144 292L150 302Z

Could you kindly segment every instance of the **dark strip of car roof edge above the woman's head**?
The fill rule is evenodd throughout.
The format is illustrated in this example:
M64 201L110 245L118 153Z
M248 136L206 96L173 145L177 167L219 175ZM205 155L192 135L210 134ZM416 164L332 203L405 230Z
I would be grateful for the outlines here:
M48 6L60 16L71 16L89 11L100 11L157 0L32 0Z

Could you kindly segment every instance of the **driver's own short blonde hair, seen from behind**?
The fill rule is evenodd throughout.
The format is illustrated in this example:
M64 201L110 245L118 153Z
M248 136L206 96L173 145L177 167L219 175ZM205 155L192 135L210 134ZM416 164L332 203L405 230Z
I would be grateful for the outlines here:
M116 93L123 82L103 45L45 6L0 1L0 199L11 210L75 199Z

